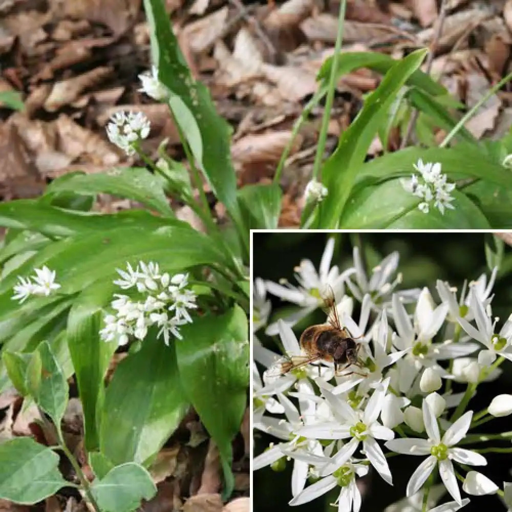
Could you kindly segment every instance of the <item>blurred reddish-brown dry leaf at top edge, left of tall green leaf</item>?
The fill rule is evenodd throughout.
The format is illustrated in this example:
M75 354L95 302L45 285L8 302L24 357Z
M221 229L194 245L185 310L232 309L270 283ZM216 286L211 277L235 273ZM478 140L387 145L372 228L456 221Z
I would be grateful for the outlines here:
M52 13L71 18L88 19L122 34L139 12L141 0L50 0Z

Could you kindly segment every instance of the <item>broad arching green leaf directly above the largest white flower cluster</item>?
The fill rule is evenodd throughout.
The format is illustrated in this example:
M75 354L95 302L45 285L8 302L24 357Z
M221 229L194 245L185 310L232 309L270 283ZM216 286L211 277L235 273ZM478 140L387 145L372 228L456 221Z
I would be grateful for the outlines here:
M5 304L6 310L12 310L13 305L9 307L7 304L17 275L30 275L34 268L43 265L56 271L56 281L61 284L58 292L69 294L96 281L111 280L116 275L116 268L124 268L126 262L137 263L139 260L156 261L168 272L212 264L233 268L227 255L208 237L190 227L119 228L108 233L83 234L42 249L20 266L16 275L9 275L2 281L0 293L8 291L9 300L3 300L0 295L0 306ZM48 297L48 300L52 299L53 296Z

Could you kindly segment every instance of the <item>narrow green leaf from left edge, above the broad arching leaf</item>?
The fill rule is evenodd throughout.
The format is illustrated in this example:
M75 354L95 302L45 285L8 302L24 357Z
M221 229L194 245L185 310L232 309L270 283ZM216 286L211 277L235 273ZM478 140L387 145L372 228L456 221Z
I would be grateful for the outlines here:
M121 227L146 226L155 229L164 225L186 226L177 219L155 217L143 210L102 215L65 210L32 199L0 204L0 226L38 231L50 237L72 237L77 233L98 233Z

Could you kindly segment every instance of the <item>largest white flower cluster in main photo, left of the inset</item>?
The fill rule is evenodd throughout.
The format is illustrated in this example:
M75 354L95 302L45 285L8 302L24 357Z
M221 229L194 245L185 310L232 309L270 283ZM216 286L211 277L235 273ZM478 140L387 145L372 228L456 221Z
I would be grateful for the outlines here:
M132 289L137 296L114 294L111 307L116 313L103 318L101 339L125 345L130 337L143 340L151 326L159 328L158 337L163 337L166 345L171 335L182 339L179 326L193 321L188 310L197 307L196 294L187 288L188 274L171 276L161 272L157 263L142 261L136 269L128 263L126 271L117 272L121 279L114 284L122 290Z

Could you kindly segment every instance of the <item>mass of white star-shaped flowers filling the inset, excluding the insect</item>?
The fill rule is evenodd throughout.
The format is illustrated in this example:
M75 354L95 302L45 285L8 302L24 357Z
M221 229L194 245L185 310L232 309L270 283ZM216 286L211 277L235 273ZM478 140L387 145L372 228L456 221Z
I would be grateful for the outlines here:
M512 439L510 432L494 438L474 432L494 417L512 414L511 395L495 397L483 411L467 410L478 384L496 378L499 366L512 361L512 315L501 329L492 318L496 269L489 279L482 274L465 285L459 297L448 283L437 281L436 303L428 288L399 291L398 281L390 282L398 255L386 258L370 278L358 251L350 272L329 269L331 258L329 241L319 273L311 262L297 271L300 288L269 282L265 288L304 312L319 307L318 301L309 301L317 298L312 290L335 287L339 321L357 344L357 362L349 360L335 371L333 354L317 349L312 356L287 320L276 323L284 354L253 337L254 428L279 440L254 458L253 470L271 466L280 471L292 461L290 505L337 487L333 505L339 512L359 511L356 482L372 468L393 484L388 457L395 454L423 460L409 479L406 498L389 512L458 510L470 499L461 497L457 480L468 495L503 496L494 482L468 469L487 461L480 450L466 448L471 442ZM348 300L344 289L360 303L358 318L343 305ZM265 303L262 281L258 294L260 304ZM404 302L414 304L406 309ZM255 329L262 326L262 317L258 320ZM454 393L454 382L463 383L466 391ZM436 506L446 492L449 501Z

